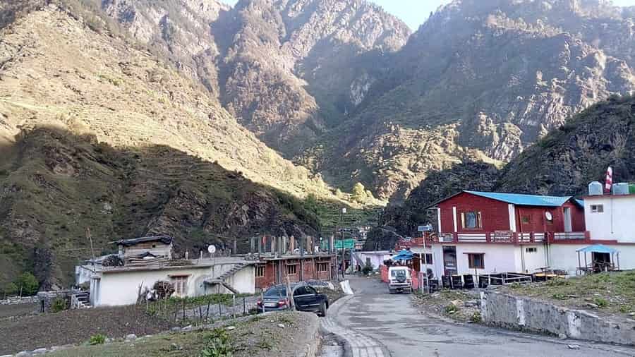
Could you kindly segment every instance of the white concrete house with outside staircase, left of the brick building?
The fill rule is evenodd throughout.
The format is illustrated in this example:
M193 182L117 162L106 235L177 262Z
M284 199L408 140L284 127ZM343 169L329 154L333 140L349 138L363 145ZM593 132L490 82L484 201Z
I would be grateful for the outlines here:
M115 242L123 265L95 266L90 279L94 306L136 303L155 282L171 282L175 295L255 292L254 262L241 257L173 260L172 238L143 237Z

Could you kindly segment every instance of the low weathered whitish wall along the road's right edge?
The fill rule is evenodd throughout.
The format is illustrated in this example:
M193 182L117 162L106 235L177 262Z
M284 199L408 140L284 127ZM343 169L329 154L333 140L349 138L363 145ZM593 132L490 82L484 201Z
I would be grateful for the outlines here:
M483 291L480 298L483 322L489 325L556 336L564 334L572 339L635 345L635 321L614 322L587 311L496 291Z

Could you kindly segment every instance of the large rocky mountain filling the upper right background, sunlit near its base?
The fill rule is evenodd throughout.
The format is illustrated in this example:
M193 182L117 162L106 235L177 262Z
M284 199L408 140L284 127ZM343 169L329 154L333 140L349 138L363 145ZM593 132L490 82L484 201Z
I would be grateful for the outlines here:
M394 202L433 171L502 167L567 117L635 90L633 23L632 9L598 0L453 1L303 162Z

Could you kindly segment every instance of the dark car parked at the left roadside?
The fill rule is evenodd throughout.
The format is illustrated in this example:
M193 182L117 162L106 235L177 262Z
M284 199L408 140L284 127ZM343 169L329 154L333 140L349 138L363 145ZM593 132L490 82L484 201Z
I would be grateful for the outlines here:
M308 284L291 284L291 296L294 299L294 306L298 311L317 313L319 316L326 316L329 308L329 298L325 294L320 294ZM270 287L265 291L262 300L258 299L258 310L262 312L288 310L291 308L286 295L286 284L279 284Z

